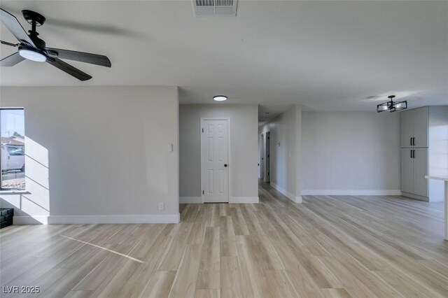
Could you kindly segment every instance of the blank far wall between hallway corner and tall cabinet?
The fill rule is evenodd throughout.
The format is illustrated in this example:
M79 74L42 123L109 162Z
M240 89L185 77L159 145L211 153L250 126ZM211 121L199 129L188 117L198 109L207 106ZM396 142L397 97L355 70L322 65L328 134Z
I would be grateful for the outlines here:
M302 194L400 194L399 113L302 113Z

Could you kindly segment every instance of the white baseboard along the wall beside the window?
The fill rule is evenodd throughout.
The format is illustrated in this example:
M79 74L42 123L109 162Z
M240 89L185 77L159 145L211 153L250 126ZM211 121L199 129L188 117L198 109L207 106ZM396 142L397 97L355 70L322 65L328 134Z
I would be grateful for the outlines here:
M52 215L14 216L14 225L82 225L82 224L137 224L178 223L181 216L169 215Z

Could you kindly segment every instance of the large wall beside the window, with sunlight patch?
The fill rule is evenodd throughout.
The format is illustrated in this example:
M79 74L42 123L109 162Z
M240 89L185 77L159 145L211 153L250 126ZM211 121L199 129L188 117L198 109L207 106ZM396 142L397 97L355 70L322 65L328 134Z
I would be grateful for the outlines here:
M177 87L1 87L0 94L2 107L25 108L31 192L1 194L1 206L41 222L50 215L50 223L179 220Z

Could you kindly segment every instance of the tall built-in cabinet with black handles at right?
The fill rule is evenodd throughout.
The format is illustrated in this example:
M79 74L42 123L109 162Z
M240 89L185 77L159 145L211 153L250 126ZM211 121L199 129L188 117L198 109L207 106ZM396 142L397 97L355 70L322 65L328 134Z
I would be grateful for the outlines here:
M400 113L401 192L424 201L442 201L443 184L427 175L448 174L448 106L425 106Z

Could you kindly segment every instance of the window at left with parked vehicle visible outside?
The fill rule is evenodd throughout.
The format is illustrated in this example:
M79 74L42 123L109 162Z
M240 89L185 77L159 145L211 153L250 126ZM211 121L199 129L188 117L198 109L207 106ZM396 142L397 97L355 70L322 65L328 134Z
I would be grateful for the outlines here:
M25 190L25 115L23 108L0 108L0 136L0 190Z

